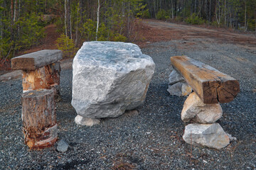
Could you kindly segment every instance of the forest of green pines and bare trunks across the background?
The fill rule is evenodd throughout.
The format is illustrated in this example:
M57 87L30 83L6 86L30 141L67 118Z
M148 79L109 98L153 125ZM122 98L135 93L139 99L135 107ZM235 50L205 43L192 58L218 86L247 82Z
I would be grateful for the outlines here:
M64 56L84 41L133 42L139 18L256 31L256 0L0 0L0 60L40 44L53 23Z

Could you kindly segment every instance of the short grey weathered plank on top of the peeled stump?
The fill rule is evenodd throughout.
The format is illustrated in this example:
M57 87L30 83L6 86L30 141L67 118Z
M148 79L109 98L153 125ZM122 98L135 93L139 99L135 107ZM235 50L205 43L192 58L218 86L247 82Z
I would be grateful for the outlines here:
M41 50L11 59L11 69L35 70L62 59L61 50Z

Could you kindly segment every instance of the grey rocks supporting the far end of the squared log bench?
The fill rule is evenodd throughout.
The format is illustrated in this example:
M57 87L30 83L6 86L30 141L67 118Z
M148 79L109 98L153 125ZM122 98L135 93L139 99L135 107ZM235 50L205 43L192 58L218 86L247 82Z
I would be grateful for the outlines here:
M178 74L174 69L169 75L169 86L167 91L171 95L188 96L188 94L191 94L192 88L186 83L181 74Z

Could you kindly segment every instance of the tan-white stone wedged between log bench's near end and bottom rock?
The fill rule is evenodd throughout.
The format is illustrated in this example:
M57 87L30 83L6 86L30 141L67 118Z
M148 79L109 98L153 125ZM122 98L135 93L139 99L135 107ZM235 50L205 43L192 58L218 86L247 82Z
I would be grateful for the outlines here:
M193 92L184 103L181 120L193 123L215 123L222 115L223 111L219 103L205 104Z

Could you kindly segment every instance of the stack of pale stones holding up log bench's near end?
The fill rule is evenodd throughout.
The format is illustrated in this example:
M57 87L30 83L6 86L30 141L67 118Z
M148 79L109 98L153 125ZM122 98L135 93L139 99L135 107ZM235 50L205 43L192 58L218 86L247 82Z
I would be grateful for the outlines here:
M226 147L230 139L223 128L215 123L222 115L219 103L205 104L193 92L186 99L181 112L181 120L192 123L186 125L183 140L188 144L199 144L215 149Z

